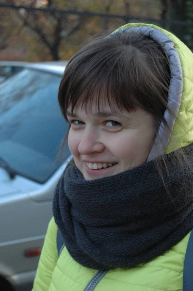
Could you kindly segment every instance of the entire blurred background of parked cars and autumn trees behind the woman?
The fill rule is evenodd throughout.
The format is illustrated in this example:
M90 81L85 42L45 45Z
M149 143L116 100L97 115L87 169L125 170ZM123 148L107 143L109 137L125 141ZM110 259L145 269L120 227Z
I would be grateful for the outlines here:
M66 61L131 21L193 49L193 0L0 0L0 290L32 290L70 159L67 146L57 159L68 129L57 100Z

